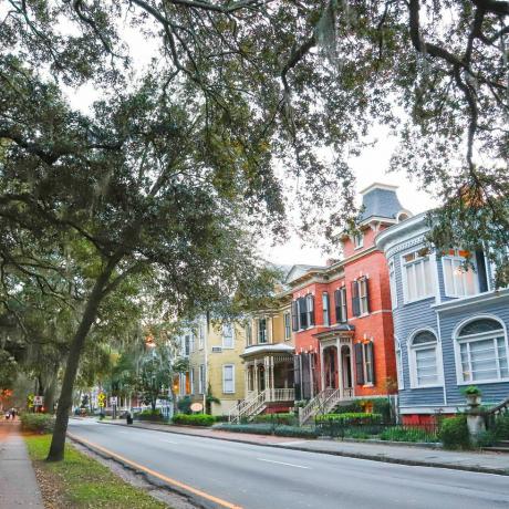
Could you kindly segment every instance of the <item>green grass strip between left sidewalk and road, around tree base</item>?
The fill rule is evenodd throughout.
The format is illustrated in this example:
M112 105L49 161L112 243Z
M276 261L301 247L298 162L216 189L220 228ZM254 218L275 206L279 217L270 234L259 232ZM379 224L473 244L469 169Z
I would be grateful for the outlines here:
M51 435L27 436L27 447L37 469L59 490L59 499L75 508L159 509L167 506L144 490L115 476L106 466L65 445L65 459L46 463Z

